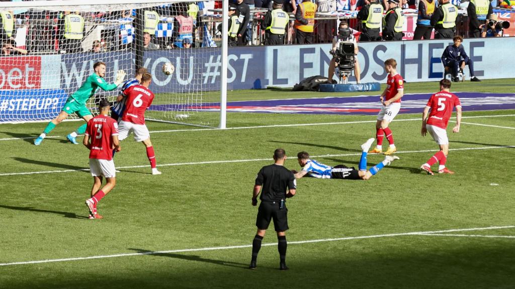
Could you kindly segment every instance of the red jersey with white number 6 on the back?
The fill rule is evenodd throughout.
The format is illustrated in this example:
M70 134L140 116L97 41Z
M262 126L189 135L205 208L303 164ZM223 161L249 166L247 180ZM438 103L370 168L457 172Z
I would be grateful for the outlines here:
M152 104L154 94L143 85L133 85L125 89L124 94L127 96L127 101L122 120L145 124L145 111Z

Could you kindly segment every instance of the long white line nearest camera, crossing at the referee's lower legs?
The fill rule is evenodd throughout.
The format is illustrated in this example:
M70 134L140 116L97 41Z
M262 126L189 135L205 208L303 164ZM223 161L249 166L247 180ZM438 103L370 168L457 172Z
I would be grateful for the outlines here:
M290 242L288 242L288 244L289 245L292 245L292 244L307 244L307 243L334 242L334 241L373 239L373 238L386 238L386 237L399 237L399 236L431 236L431 234L436 234L436 233L479 231L479 230L493 230L493 229L508 229L508 228L515 228L515 226L496 226L496 227L483 227L483 228L450 229L450 230L439 230L439 231L392 233L392 234L380 234L380 235L357 236L357 237L343 237L343 238L331 238L331 239L318 239L318 240L305 240L305 241L293 241L293 242L290 241ZM266 244L263 244L262 246L277 246L277 243L266 243ZM104 259L104 258L115 258L115 257L130 257L130 256L142 256L142 255L157 255L157 254L181 253L181 252L227 250L227 249L239 249L239 248L250 248L250 247L252 247L252 245L237 245L237 246L205 247L205 248L191 248L191 249L178 249L178 250L166 250L166 251L123 253L123 254L101 255L101 256L90 256L90 257L76 257L76 258L63 258L63 259L47 259L47 260L39 260L39 261L24 261L24 262L0 263L0 266L28 265L28 264L66 262L66 261L79 261L79 260L91 260L91 259Z

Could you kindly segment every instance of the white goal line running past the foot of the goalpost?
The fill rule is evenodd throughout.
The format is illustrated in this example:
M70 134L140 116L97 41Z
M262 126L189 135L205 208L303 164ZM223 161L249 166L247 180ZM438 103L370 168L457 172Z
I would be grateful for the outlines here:
M480 116L464 116L462 118L484 118L484 117L507 117L515 116L515 114L507 115L480 115ZM453 117L455 118L455 117ZM399 121L420 121L420 118L409 118L409 119L396 119ZM183 129L183 130L164 130L164 131L151 131L150 133L175 133L175 132L197 132L197 131L225 131L225 130L248 130L248 129L263 129L263 128L285 128L285 127L311 127L314 125L333 125L333 124L355 124L355 123L375 123L376 120L360 120L360 121L341 121L341 122L319 122L319 123L294 123L294 124L273 124L273 125L256 125L255 127L236 127L227 129ZM511 128L510 128L511 129ZM19 139L31 139L36 138L30 137L11 137L11 138L0 138L2 140L19 140ZM64 136L47 136L47 138L64 138Z

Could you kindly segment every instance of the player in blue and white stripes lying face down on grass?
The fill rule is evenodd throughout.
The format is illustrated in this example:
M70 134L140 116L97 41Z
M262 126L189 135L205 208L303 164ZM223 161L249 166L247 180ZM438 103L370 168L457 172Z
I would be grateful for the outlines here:
M374 142L374 138L370 138L361 145L362 153L359 160L359 170L354 167L347 167L345 165L338 165L330 167L322 164L314 159L310 159L310 154L307 152L300 152L297 154L299 165L302 167L300 172L295 172L295 178L301 178L305 175L316 178L342 178L342 179L364 179L367 180L375 175L384 166L390 165L393 160L399 159L398 156L387 155L385 159L379 164L370 168L367 171L367 154L370 146Z

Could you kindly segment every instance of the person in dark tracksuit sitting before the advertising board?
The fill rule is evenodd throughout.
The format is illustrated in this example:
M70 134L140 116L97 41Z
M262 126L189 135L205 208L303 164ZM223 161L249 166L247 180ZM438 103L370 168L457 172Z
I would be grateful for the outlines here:
M463 73L463 69L465 65L469 66L470 72L470 81L479 82L477 77L474 76L474 62L467 56L465 52L465 48L461 44L463 42L463 38L459 35L453 38L454 44L451 44L443 50L442 53L442 64L444 70L447 72L449 70L452 71L452 78L454 81L459 81L458 73Z

